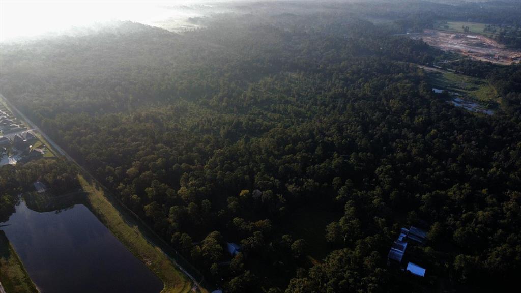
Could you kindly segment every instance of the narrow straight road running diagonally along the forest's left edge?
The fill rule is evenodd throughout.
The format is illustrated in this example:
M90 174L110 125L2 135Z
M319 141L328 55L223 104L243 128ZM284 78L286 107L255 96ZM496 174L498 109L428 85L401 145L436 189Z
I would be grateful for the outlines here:
M40 135L47 141L48 144L51 144L51 146L58 152L60 153L61 155L65 156L67 158L67 160L75 163L81 170L83 173L85 174L88 174L90 178L92 178L93 180L96 181L96 183L99 185L99 186L102 186L105 190L107 190L107 188L105 188L100 181L98 181L96 178L94 178L94 176L92 176L90 174L90 172L88 170L86 170L85 168L83 168L80 164L78 164L78 162L76 160L74 160L64 149L60 148L60 146L55 143L50 137L48 137L45 132L43 132L38 126L36 126L36 124L34 124L29 118L27 118L26 115L23 115L23 113L17 108L15 107L13 104L11 104L11 102L9 102L9 100L6 99L6 97L0 93L0 98L2 100L4 100L4 102L7 104L7 106L11 109L11 111L15 112L14 114L17 115L18 117L21 117L24 122L26 124L28 124L28 126L37 131L38 133L40 133ZM111 195L111 194L109 194ZM117 202L119 202L119 200L115 197L113 197L114 199L116 199ZM119 202L120 203L120 202ZM120 203L123 207L125 207L125 205L123 205L122 203ZM126 207L125 207L126 208ZM128 210L128 209L127 209ZM132 211L128 210L130 213L133 214ZM135 215L135 214L134 214ZM143 221L141 221L141 218L139 218L137 215L135 215L135 217L137 217L139 219L139 221L144 224ZM148 227L148 226L147 226ZM157 239L159 239L159 241L162 241L162 239L152 230L150 229L150 227L148 227L148 229L152 232L153 235L155 235L157 237ZM145 237L143 235L143 237ZM146 240L150 241L150 242L153 242L155 243L156 241L154 239L150 239L149 237L145 237ZM164 241L163 241L164 242ZM157 247L159 247L159 245L157 245ZM194 289L197 289L198 287L200 287L200 282L202 282L202 280L197 280L195 279L195 277L193 277L187 270L185 270L185 268L183 268L181 265L179 265L179 263L173 259L168 253L164 252L162 249L161 251L179 268L179 270L181 272L183 272L185 275L187 275L193 282L194 284L194 288L192 288L192 291L195 291ZM175 251L176 254L177 251ZM0 293L5 293L5 291L3 291L3 288L2 288L2 285L0 284Z

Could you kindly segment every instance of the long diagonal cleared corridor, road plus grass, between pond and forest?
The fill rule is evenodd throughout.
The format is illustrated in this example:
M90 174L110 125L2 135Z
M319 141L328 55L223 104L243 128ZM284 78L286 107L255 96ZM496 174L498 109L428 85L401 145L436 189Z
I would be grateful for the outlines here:
M119 239L138 259L146 264L163 282L165 288L162 293L184 293L199 290L207 292L202 277L195 278L195 269L188 270L181 266L186 263L177 252L165 252L167 247L153 231L142 221L132 216L125 206L122 206L115 197L103 187L90 173L76 162L65 150L60 148L38 126L23 115L13 104L0 94L11 111L31 128L38 131L47 145L52 146L57 153L75 163L81 170L80 184L87 193L88 207L100 221L107 226L116 238ZM176 258L178 257L179 260ZM189 265L186 263L186 265ZM194 273L189 273L189 271ZM192 284L193 283L193 284ZM192 286L193 285L193 286Z

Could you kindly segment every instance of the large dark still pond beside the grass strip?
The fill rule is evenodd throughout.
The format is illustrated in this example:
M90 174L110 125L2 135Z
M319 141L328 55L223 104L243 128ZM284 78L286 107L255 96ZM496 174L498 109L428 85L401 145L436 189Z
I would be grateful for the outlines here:
M25 202L2 227L42 293L158 293L163 283L82 204L39 213Z

